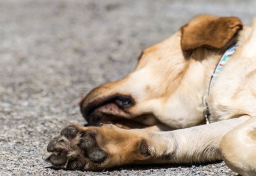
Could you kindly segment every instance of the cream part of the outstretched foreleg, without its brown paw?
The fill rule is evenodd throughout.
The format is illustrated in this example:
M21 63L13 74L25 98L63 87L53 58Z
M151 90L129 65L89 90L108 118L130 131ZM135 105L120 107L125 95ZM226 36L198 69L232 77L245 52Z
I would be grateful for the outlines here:
M219 148L222 137L249 119L242 116L187 129L157 132L151 136L155 162L195 163L222 160ZM160 144L160 145L159 145Z

